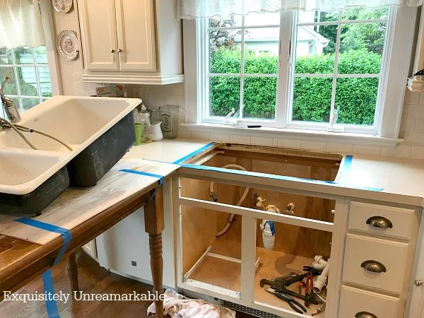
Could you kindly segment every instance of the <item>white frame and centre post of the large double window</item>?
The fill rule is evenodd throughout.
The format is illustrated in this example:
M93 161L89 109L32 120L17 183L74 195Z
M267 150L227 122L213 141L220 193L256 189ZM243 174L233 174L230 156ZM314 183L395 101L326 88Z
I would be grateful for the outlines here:
M372 129L357 129L358 127L348 127L345 125L346 134L369 134L372 136L396 139L399 136L399 127L401 119L401 111L403 108L403 100L405 93L406 78L411 63L411 51L413 47L413 36L416 24L416 8L391 8L393 13L390 14L388 23L383 61L382 73L384 76L380 78L379 99L382 105L379 112L375 116L375 126ZM295 13L281 14L281 34L285 28L289 28L288 33L293 37L293 23ZM187 122L189 124L223 124L223 117L207 118L204 115L206 109L206 90L208 90L208 82L205 81L206 68L208 68L208 46L205 47L202 42L201 35L206 35L205 19L184 20L184 68L186 80L186 109ZM285 33L287 34L287 33ZM193 36L196 40L192 40ZM208 39L208 37L207 37ZM290 88L290 75L288 72L289 64L283 61L290 61L290 41L280 41L279 61L281 67L278 68L277 96L276 96L276 120L274 121L252 121L247 119L239 120L240 125L261 124L265 127L275 127L283 134L284 131L326 131L322 127L312 124L304 124L302 126L290 125L288 123L288 98L292 98L288 94ZM196 65L189 63L191 58L196 58ZM207 61L207 63L205 62ZM284 67L285 65L285 67ZM384 68L384 69L383 69ZM207 92L208 93L208 92ZM283 105L283 107L278 107ZM281 120L283 119L283 120ZM325 127L327 126L324 124ZM359 127L361 128L361 127ZM363 128L363 127L362 127ZM344 133L337 133L344 134Z

